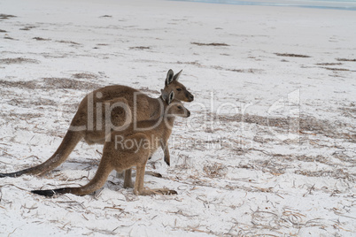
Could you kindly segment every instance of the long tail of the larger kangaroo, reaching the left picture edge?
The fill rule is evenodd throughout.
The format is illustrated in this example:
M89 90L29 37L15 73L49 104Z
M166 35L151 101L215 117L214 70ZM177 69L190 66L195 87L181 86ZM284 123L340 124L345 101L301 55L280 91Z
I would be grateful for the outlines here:
M19 177L22 174L38 174L42 175L46 172L50 172L54 168L58 167L59 164L62 164L66 161L66 158L74 150L75 146L81 141L82 134L79 132L68 131L65 138L60 143L56 152L43 164L38 164L34 167L19 171L19 172L10 172L10 173L0 173L0 178L4 177Z

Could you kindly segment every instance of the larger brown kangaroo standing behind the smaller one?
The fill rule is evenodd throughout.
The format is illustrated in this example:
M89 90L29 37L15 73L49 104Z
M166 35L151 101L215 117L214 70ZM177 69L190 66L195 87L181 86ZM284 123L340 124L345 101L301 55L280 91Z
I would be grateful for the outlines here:
M170 69L166 74L163 91L165 93L174 91L177 100L191 102L194 100L194 96L178 82L181 73L182 70L174 75L174 72ZM113 106L117 103L119 103L118 106ZM146 96L135 88L121 85L99 88L89 93L81 101L63 141L48 160L43 164L19 172L0 173L0 178L19 177L23 174L43 175L50 172L66 161L66 158L81 139L84 139L88 144L104 144L106 135L110 134L112 129L120 128L127 122L128 116L127 113L123 112L125 108L123 103L128 104L134 122L157 119L159 110L162 109L160 108L162 106L160 106L161 100L159 98ZM166 144L162 144L162 149L164 149L166 164L169 165L170 157Z

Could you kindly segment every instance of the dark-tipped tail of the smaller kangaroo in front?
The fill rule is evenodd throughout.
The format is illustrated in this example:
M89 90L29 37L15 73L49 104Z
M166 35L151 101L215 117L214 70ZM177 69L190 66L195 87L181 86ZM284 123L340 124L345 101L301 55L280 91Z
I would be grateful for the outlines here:
M104 183L112 170L112 166L107 164L107 162L103 161L102 159L93 180L90 180L89 183L83 187L63 187L48 190L32 190L31 193L44 196L52 196L56 194L89 195L100 187L104 186Z

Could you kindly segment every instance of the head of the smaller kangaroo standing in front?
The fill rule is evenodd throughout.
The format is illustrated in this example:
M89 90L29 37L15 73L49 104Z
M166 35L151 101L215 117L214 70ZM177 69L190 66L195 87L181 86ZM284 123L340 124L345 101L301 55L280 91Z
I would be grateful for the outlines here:
M181 101L174 99L174 91L171 91L169 94L162 92L162 99L166 103L166 115L174 115L182 118L190 117L190 111L184 107Z

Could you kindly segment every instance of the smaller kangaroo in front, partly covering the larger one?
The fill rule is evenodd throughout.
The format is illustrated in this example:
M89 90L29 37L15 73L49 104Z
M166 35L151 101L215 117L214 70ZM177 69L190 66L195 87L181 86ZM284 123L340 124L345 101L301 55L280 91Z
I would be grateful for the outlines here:
M113 131L110 141L105 141L103 157L97 173L89 183L83 187L63 187L50 190L33 190L37 195L52 196L55 194L89 195L103 187L109 174L116 170L122 172L136 166L135 195L163 195L177 194L166 188L145 189L143 187L144 169L151 155L166 143L172 133L175 116L190 117L188 111L180 101L174 100L174 92L169 95L162 93L160 97L165 102L165 111L159 119L139 121L137 127L130 124L124 131Z

